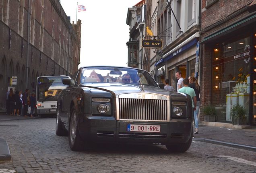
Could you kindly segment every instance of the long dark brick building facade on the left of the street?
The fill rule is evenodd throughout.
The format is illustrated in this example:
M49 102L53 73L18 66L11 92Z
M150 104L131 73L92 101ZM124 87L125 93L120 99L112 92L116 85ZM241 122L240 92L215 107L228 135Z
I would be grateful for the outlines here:
M12 87L24 92L35 89L37 76L73 74L80 38L81 20L71 24L58 0L1 1L0 108L12 76L17 76Z

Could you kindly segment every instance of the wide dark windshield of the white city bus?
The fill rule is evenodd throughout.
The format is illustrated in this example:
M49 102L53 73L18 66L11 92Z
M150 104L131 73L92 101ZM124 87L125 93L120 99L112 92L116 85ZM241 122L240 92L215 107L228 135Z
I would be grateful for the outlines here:
M57 101L59 93L67 86L62 83L68 76L43 76L37 78L37 101Z

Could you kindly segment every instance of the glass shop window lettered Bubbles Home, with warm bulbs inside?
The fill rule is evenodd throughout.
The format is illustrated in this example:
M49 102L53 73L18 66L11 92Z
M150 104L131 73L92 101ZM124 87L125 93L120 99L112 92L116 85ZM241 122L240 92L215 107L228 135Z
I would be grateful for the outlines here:
M217 121L231 121L230 110L235 104L250 107L251 37L237 36L213 46L212 103Z

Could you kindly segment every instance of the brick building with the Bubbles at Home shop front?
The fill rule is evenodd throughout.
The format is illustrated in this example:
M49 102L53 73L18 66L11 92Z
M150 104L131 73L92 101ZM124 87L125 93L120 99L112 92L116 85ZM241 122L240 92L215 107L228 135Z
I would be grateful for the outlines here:
M239 104L247 112L245 125L256 125L256 1L202 0L201 8L202 107L212 104L216 121L231 123Z

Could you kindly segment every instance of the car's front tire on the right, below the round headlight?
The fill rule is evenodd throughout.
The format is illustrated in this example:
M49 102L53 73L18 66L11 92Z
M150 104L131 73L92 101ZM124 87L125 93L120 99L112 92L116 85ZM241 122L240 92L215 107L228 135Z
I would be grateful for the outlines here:
M184 153L185 151L187 151L189 149L189 147L192 143L192 139L193 139L193 130L191 130L191 135L190 135L190 139L188 140L188 142L186 142L186 143L174 143L174 144L165 145L165 146L171 152Z

